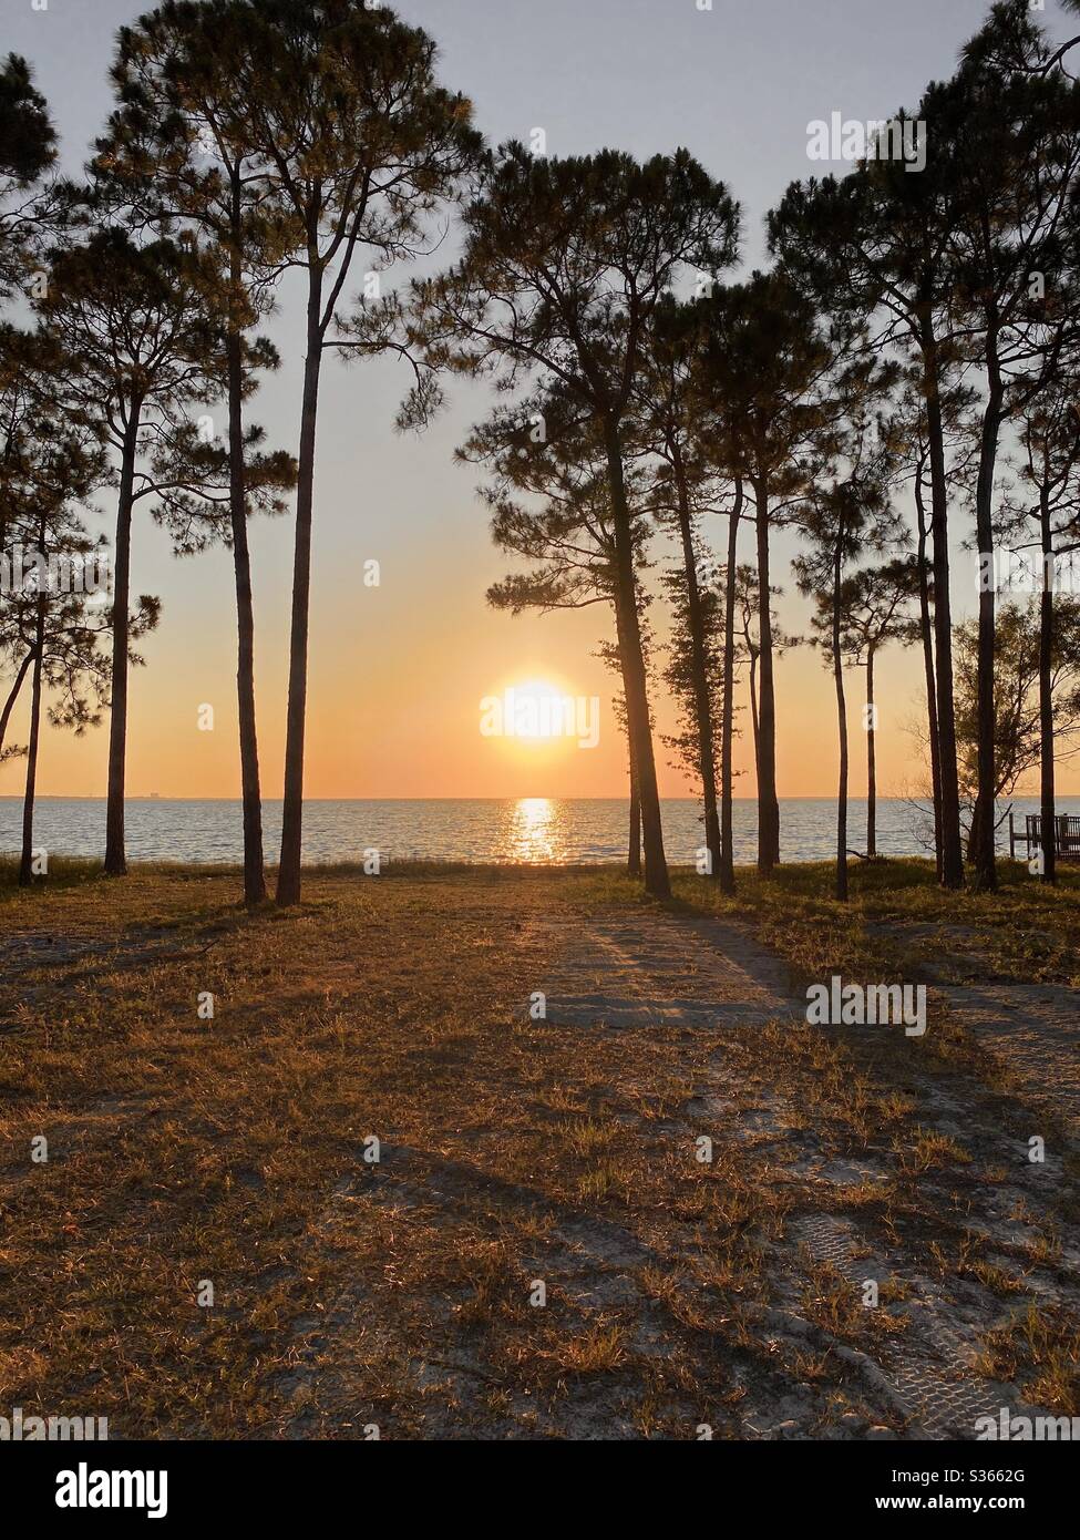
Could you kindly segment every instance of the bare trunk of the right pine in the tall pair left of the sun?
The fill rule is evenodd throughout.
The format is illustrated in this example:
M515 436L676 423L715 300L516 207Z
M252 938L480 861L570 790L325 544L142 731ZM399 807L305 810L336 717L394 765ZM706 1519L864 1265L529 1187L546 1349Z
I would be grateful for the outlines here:
M304 360L304 407L296 484L296 553L293 559L293 628L288 670L288 725L285 735L285 807L277 902L300 901L300 839L304 833L304 727L308 698L308 611L311 602L311 513L314 499L314 440L322 373L322 274L310 273L308 351Z

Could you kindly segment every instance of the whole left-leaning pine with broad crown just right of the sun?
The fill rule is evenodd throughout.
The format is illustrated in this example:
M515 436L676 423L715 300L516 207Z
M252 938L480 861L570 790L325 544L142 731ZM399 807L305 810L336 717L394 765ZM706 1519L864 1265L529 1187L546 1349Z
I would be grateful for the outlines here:
M733 208L686 152L533 157L508 145L465 211L461 260L413 290L411 340L430 365L558 380L602 436L616 537L619 639L646 842L646 887L670 892L635 602L626 433L646 331L687 268L723 270Z

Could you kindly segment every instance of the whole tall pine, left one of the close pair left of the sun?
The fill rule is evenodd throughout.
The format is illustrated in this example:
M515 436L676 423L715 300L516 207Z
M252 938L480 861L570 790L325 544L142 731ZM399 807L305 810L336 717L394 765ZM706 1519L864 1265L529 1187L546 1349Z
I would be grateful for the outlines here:
M205 242L217 280L228 403L228 530L237 621L237 715L243 799L243 895L265 899L262 793L254 693L254 607L248 516L253 491L282 510L296 465L260 451L260 430L245 427L256 371L277 367L253 328L273 305L282 271L285 211L265 186L260 160L233 122L234 69L247 54L245 5L166 0L120 28L112 65L119 106L97 143L91 171L99 200L122 200L129 219Z

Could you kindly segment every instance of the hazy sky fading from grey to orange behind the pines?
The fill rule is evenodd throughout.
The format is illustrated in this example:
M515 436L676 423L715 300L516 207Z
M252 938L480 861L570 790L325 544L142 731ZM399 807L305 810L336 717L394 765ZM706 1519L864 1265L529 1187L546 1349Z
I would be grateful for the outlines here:
M5 51L25 54L60 131L63 165L77 171L109 109L106 69L117 25L139 0L3 0ZM441 77L473 99L491 142L544 128L552 154L605 145L646 157L686 145L744 206L744 265L764 257L763 219L786 185L813 171L807 123L832 111L881 119L914 105L948 74L980 25L983 0L402 0L399 12L441 43ZM1051 31L1066 22L1048 0ZM840 168L837 168L840 169ZM448 253L451 246L447 246ZM365 263L361 262L359 276ZM250 408L268 442L296 451L302 328L296 283L282 290L268 331L283 359ZM316 468L307 793L336 796L613 796L626 790L624 747L610 708L612 676L593 656L613 627L599 608L513 619L484 599L505 562L491 547L475 471L451 462L485 393L453 390L450 411L424 436L401 437L394 411L408 380L394 362L324 376ZM109 497L99 499L109 528ZM960 531L966 533L966 531ZM719 521L706 534L719 547ZM750 559L750 531L744 559ZM795 545L776 542L776 578L790 588ZM263 793L280 796L291 591L291 516L256 521L253 562ZM656 544L655 556L670 561ZM381 564L365 587L364 564ZM131 681L128 790L132 796L237 796L234 598L230 557L176 561L143 513L132 547L134 590L163 601L159 631ZM957 550L957 611L974 601L974 557ZM655 607L658 634L666 625ZM784 625L801 631L807 605L787 594ZM575 696L601 696L595 748L524 745L481 735L479 702L510 684L544 679ZM852 698L861 679L850 676ZM781 796L835 792L830 678L809 648L778 668ZM200 732L199 707L216 727ZM920 665L895 648L878 668L878 787L921 787L909 727L923 713ZM658 691L658 725L670 711ZM852 732L854 793L864 764ZM736 748L753 795L749 722ZM18 730L12 736L20 736ZM25 735L22 735L25 739ZM689 790L661 747L661 792ZM22 788L22 764L0 768L0 795ZM103 795L106 732L82 741L48 728L39 790ZM1080 790L1063 768L1062 793Z

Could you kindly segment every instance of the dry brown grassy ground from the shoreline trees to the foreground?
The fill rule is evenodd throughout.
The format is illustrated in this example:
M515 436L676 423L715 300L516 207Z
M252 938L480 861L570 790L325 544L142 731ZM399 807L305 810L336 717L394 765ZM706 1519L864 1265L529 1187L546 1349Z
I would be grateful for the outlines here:
M1080 1412L1069 1135L935 996L918 1043L527 1013L609 921L686 933L681 993L713 921L795 993L988 959L1072 984L1072 873L1014 876L941 895L881 862L841 910L827 865L740 873L735 901L676 872L670 906L596 867L310 869L300 909L254 915L217 867L0 881L8 1401L112 1437L753 1437L784 1406L800 1437L904 1437L852 1364L943 1291L988 1372ZM1014 1164L1035 1126L1043 1187ZM798 1243L821 1217L907 1260L881 1311Z

